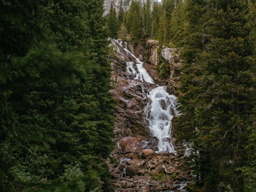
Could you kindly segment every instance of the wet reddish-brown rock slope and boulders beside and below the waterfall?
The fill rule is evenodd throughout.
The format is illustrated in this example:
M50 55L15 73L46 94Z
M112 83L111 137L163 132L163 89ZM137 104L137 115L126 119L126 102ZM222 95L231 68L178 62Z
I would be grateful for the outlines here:
M151 43L152 47L157 47L157 42ZM156 153L158 139L151 136L148 122L145 121L145 95L156 85L134 79L132 73L127 74L126 62L134 61L134 58L126 54L116 41L111 40L111 45L115 51L115 57L111 58L115 89L111 92L118 101L118 121L115 124L116 147L110 154L112 159L107 161L112 180L105 191L186 191L183 189L183 182L189 182L193 175L190 171L181 169L186 166L184 161L177 160L180 158L179 155L168 152ZM151 51L154 52L155 47ZM170 65L175 66L173 58L177 57L176 54L176 50L166 49L162 57L169 61ZM139 58L139 54L136 56ZM143 58L141 57L141 60ZM153 77L154 82L167 85L169 90L175 90L169 82L170 79L163 81L157 77L157 63L153 59L151 61L144 62L143 66Z

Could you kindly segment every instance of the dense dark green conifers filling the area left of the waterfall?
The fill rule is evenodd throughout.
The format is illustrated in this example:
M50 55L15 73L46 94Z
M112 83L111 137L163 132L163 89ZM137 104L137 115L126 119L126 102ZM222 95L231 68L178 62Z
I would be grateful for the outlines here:
M102 5L1 1L1 191L89 191L109 179L115 102Z

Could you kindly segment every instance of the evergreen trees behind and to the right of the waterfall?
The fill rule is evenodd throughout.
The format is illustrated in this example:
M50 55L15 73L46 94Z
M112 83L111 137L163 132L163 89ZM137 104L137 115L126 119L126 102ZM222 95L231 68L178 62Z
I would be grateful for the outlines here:
M190 151L191 190L256 191L255 2L163 0L150 7L132 1L121 11L109 14L109 28L111 19L119 23L110 37L134 44L151 38L159 49L181 49L174 125L177 142Z

